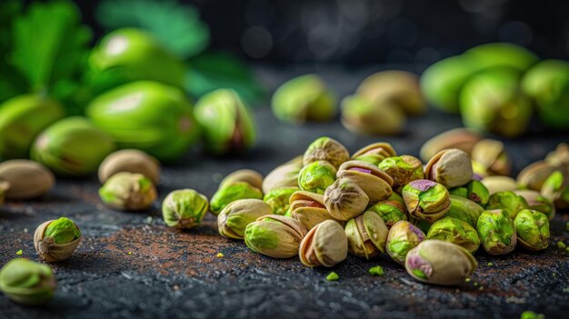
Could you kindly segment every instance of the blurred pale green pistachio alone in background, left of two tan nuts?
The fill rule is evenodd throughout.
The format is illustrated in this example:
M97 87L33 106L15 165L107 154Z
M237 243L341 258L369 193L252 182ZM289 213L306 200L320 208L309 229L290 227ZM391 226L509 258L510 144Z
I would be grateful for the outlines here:
M302 124L329 121L336 113L336 97L318 75L302 75L279 86L271 106L276 118Z

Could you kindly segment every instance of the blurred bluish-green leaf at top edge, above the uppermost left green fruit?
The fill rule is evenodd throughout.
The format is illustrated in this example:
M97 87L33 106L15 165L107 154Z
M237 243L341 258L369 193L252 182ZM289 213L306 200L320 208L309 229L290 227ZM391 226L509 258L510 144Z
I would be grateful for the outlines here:
M195 8L171 0L106 0L97 7L96 18L109 29L145 29L180 59L199 54L209 44L209 29Z

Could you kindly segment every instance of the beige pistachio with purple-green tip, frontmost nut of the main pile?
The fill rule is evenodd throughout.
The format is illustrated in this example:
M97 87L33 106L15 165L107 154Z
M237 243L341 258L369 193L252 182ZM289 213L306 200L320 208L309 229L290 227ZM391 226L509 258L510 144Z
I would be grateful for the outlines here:
M464 283L478 263L458 244L427 239L407 253L405 269L415 280L427 284Z

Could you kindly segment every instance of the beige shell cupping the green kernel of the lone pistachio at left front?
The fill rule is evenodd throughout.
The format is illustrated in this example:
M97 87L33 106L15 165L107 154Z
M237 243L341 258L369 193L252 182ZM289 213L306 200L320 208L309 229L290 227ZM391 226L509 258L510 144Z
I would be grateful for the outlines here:
M37 254L50 263L57 263L69 258L79 245L81 237L75 239L67 244L55 244L54 239L51 237L45 238L45 230L47 226L55 222L55 220L47 221L40 224L34 233L34 246Z

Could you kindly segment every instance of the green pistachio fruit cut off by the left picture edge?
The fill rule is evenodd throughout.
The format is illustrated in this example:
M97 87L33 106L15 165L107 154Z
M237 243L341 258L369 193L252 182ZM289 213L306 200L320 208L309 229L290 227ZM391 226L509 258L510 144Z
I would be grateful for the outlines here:
M64 117L55 100L41 95L19 95L0 105L0 160L26 158L47 126Z

